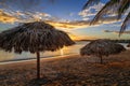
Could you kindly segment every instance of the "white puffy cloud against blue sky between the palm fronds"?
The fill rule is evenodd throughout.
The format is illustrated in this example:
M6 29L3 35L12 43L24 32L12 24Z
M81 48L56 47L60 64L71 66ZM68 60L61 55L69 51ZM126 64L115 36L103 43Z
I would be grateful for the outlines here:
M81 12L78 13L78 15L80 15L82 17L82 20L92 20L94 18L94 16L98 14L98 12L105 5L105 3L100 2L99 4L94 4ZM127 11L127 14L130 10ZM108 17L109 18L117 18L117 13L115 13L114 11L109 10L107 12L107 15L105 15L104 18L107 18L107 20L104 20L104 24L109 23L108 22ZM100 22L103 22L103 19L101 19ZM112 20L110 20L112 22ZM112 22L113 23L113 22ZM115 23L115 19L114 19Z

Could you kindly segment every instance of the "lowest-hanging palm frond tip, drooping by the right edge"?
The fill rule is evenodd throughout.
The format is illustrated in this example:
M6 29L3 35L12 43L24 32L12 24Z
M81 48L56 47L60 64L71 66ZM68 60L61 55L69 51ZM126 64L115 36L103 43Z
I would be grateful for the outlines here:
M120 34L126 30L127 26L130 24L130 12L129 14L127 15L127 17L125 18L122 25L121 25L121 29L119 31L119 37Z

